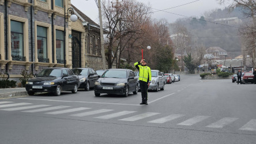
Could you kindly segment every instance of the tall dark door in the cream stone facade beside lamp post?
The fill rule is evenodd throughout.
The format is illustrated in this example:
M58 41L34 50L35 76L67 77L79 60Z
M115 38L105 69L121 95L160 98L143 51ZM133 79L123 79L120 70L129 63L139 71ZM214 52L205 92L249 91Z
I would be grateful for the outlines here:
M80 33L72 31L72 68L81 67L81 39Z

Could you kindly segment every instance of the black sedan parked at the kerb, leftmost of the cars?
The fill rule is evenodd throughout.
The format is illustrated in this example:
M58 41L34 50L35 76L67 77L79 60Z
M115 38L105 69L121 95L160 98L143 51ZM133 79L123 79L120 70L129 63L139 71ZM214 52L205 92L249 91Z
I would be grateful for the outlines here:
M27 81L25 88L29 95L35 92L51 92L60 96L62 91L71 90L77 93L80 86L78 75L70 69L62 67L51 67L40 71L36 77Z

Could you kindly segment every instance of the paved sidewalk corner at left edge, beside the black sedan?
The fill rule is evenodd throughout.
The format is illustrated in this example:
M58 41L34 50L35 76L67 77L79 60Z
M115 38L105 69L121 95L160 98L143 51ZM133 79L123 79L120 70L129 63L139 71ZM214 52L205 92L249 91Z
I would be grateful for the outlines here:
M28 96L25 88L0 89L0 98Z

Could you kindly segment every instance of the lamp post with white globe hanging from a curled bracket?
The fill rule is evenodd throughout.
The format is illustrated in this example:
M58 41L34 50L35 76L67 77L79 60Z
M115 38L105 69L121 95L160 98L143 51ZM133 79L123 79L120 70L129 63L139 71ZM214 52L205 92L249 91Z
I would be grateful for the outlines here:
M66 5L64 5L64 67L66 67L66 20L67 20L67 28L69 28L69 13L71 13L70 20L73 22L77 21L77 15L74 14L74 9L72 7L67 8L67 13L66 13ZM67 17L66 17L67 14Z

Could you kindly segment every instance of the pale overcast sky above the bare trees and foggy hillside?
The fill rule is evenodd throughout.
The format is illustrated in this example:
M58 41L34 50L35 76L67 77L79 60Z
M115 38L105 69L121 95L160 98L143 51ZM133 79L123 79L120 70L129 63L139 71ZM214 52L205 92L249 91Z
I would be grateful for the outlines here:
M96 0L97 1L97 0ZM112 0L116 2L116 0ZM119 0L119 2L122 0ZM123 0L125 1L125 0ZM166 18L169 22L174 22L177 18L183 18L183 16L191 17L196 16L199 18L204 15L204 12L213 10L213 9L223 9L223 5L219 5L216 0L135 0L138 2L143 2L146 5L150 5L153 9L154 14L152 18L160 19ZM95 0L71 0L71 3L76 6L81 12L86 16L91 18L96 23L99 23L99 11ZM186 3L189 3L185 5ZM183 5L183 6L180 6ZM178 6L178 7L175 7ZM156 12L158 10L168 9L166 12ZM175 14L171 14L175 13ZM180 14L183 16L178 16Z

